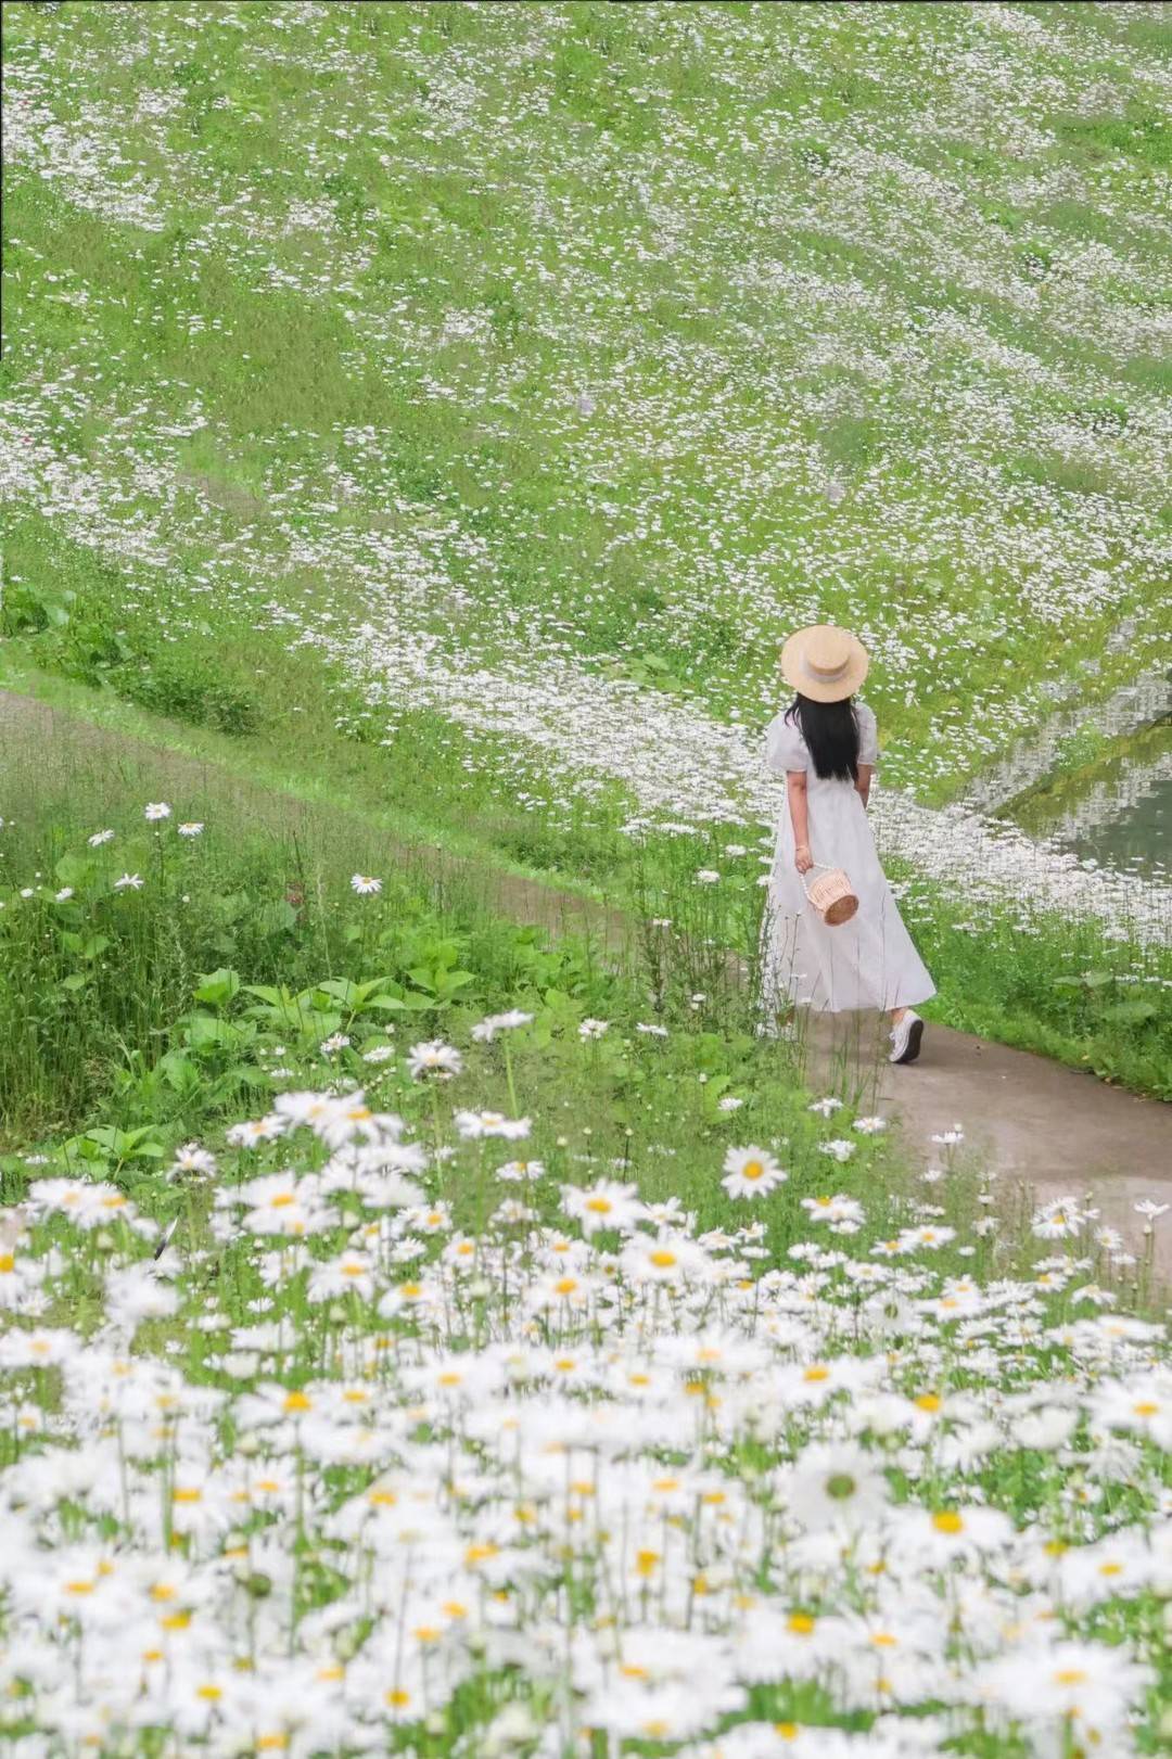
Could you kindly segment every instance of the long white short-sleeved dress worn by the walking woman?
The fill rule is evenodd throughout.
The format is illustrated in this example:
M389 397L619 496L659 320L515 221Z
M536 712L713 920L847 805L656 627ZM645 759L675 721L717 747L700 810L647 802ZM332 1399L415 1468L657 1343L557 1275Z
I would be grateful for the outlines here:
M862 702L859 712L859 762L878 762L875 714ZM765 892L762 922L762 1003L765 1020L776 1020L790 1003L818 1011L848 1008L905 1008L936 994L927 969L908 934L890 885L875 853L871 821L852 781L822 777L809 748L783 714L765 728L765 763L774 774L806 770L806 843L815 862L841 867L859 895L850 922L827 927L806 899L802 874L794 865L794 821L788 799L781 802L778 841ZM804 874L806 883L820 869Z

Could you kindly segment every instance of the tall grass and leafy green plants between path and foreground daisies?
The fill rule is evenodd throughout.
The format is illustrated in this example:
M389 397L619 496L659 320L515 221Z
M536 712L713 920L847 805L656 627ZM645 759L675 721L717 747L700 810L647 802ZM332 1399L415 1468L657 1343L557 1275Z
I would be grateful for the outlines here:
M146 821L164 790L171 814ZM748 997L727 980L697 1010L686 969L655 983L637 946L625 955L595 934L551 939L507 922L475 869L389 865L357 816L319 806L292 818L278 800L250 809L216 772L167 776L150 751L111 765L84 737L56 741L35 770L9 772L5 804L5 1201L19 1201L25 1156L44 1145L157 1203L167 1154L192 1136L222 1142L290 1087L363 1085L382 1108L429 1124L405 1054L438 1036L470 1059L459 1105L542 1112L531 1154L553 1171L574 1179L575 1154L609 1157L649 1200L674 1196L704 1226L736 1210L711 1177L722 1142L746 1129L783 1140L794 1180L762 1214L774 1251L801 1235L799 1198L825 1177L818 1143L843 1124L808 1112L797 1052L755 1036ZM204 828L185 837L178 827L192 821ZM107 844L90 846L111 828ZM354 872L382 878L382 892L355 895ZM121 874L141 888L118 890ZM468 1052L470 1027L503 1008L531 1011L531 1025ZM588 1017L607 1020L598 1041L579 1038ZM347 1041L322 1052L334 1034ZM387 1061L368 1062L371 1050ZM739 1108L723 1113L725 1098ZM836 1189L880 1180L894 1205L908 1179L885 1136L859 1138L855 1159L836 1168ZM957 1179L950 1201L966 1191ZM473 1201L458 1187L445 1196L461 1214Z

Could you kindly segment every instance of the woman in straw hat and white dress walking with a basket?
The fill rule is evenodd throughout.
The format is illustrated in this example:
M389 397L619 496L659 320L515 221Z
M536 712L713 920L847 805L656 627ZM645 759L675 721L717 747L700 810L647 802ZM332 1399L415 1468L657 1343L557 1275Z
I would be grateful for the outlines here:
M903 925L866 813L876 728L852 697L868 665L862 642L829 623L797 630L781 649L797 698L765 730L765 763L785 776L787 804L765 895L762 992L774 1018L790 1003L889 1010L889 1061L915 1062L924 1022L912 1004L936 985ZM846 872L859 897L850 922L827 927L808 902L802 874L815 864Z

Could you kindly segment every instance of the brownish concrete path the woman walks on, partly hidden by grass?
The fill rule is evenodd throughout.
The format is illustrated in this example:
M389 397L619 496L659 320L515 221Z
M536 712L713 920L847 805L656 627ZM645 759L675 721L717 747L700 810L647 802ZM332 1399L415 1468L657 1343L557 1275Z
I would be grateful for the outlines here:
M185 776L206 785L215 769L165 744L130 741L35 698L0 691L0 783L5 732L18 726L25 741L30 734L46 744L84 737L111 755L134 749L139 765L150 760L157 767L160 785L171 779L174 786ZM239 795L255 795L259 816L280 820L287 828L303 811L322 811L222 774ZM394 855L392 839L387 841L387 853ZM401 855L435 876L473 872L491 906L514 920L540 923L554 934L588 931L611 950L632 945L634 923L619 911L436 846L403 844ZM799 1024L801 1069L815 1092L850 1096L887 1117L924 1166L940 1164L941 1156L929 1138L959 1124L964 1156L996 1168L1001 1189L1024 1186L1036 1200L1093 1193L1102 1219L1133 1247L1142 1228L1133 1203L1153 1198L1172 1205L1172 1106L934 1022L926 1025L920 1061L892 1066L887 1029L885 1018L866 1013L806 1017ZM1172 1275L1172 1210L1156 1223L1156 1261Z

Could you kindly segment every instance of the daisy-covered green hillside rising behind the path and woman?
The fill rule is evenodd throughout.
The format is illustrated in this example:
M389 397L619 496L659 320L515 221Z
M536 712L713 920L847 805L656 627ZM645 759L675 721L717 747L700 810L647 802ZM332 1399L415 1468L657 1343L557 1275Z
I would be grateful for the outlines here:
M528 737L581 677L764 719L776 637L853 621L883 777L933 799L1051 686L1142 665L1158 16L811 16L9 9L33 660L252 728L234 762L275 785L625 892L637 698L602 797ZM945 1017L1088 1061L1052 982L1103 957L1010 955L1012 997L998 964Z

